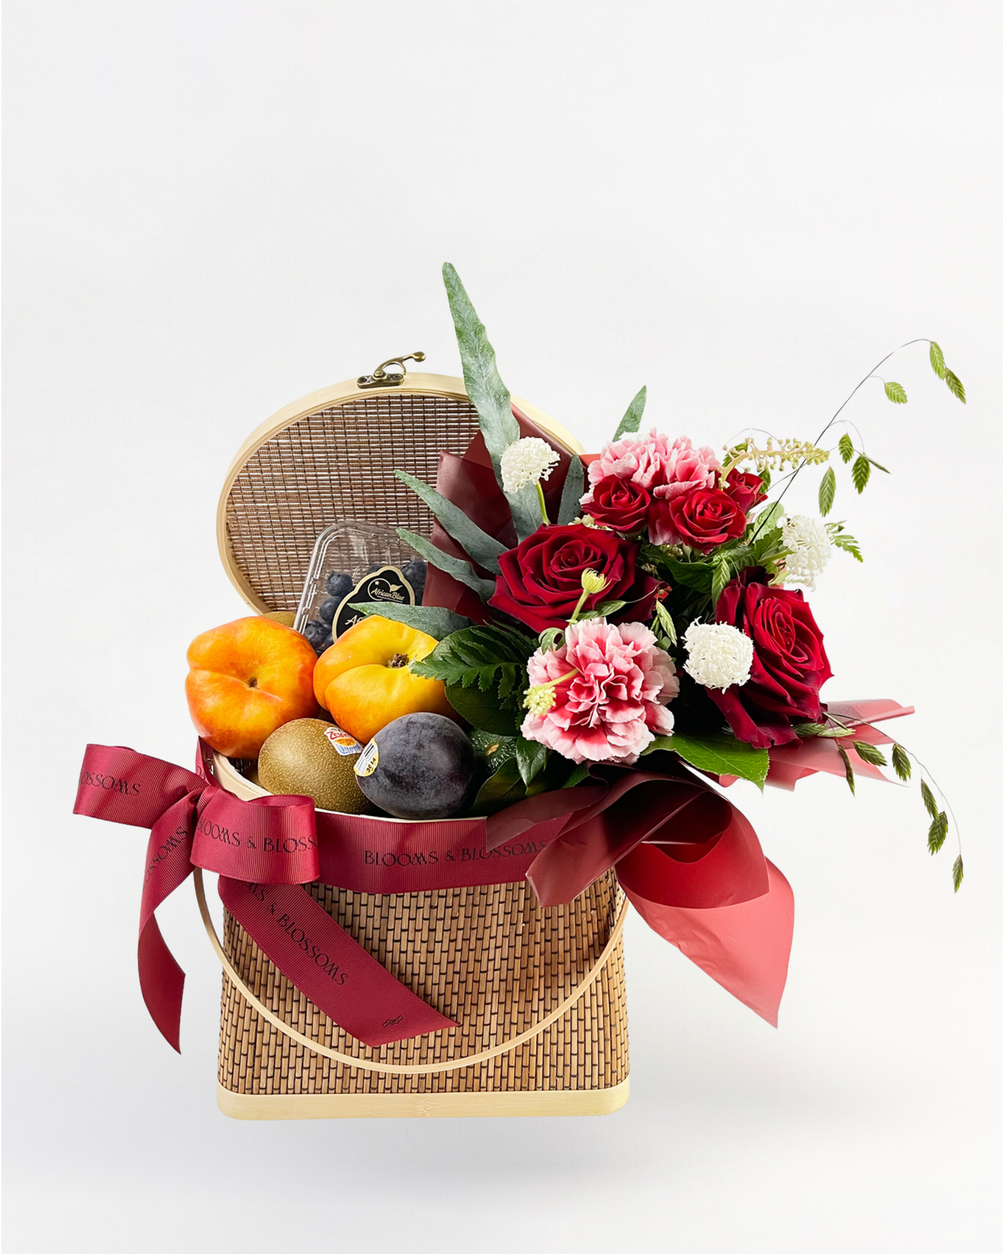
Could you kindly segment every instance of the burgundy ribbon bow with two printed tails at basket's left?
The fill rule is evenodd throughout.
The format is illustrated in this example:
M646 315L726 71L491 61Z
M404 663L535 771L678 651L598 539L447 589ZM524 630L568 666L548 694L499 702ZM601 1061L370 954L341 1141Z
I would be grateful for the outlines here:
M313 801L242 801L199 772L132 749L88 745L74 814L149 828L139 912L139 983L154 1023L179 1050L184 972L154 912L196 867L219 874L219 897L276 967L365 1045L455 1027L399 983L303 890L320 853Z

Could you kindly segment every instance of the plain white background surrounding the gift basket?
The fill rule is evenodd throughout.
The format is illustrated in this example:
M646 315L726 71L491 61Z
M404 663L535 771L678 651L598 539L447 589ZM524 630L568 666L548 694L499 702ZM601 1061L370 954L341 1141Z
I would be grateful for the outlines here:
M999 1249L999 6L6 8L5 1249ZM779 1031L632 918L619 1114L231 1122L191 889L178 1057L144 836L73 818L76 769L189 762L231 456L392 352L459 372L445 260L589 448L642 382L673 435L811 438L939 340L968 405L924 346L908 406L860 393L893 474L841 473L866 562L812 606L827 696L918 707L967 879L915 790L740 785L797 902Z

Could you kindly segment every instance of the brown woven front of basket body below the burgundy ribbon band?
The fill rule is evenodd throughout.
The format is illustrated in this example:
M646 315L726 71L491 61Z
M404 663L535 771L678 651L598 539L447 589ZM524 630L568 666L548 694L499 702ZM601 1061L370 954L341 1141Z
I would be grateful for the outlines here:
M589 972L609 935L612 874L570 905L542 909L524 884L374 895L315 884L320 904L414 993L455 1020L453 1032L369 1050L342 1032L226 918L223 946L251 991L321 1045L380 1062L446 1062L517 1036ZM219 1083L238 1093L484 1092L609 1088L626 1078L623 947L560 1020L473 1067L399 1076L359 1071L278 1032L223 977Z

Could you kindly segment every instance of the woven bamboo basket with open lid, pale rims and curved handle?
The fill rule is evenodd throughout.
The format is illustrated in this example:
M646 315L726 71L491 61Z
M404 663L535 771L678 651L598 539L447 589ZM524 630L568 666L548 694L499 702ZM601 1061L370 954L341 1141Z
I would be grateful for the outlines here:
M572 451L535 406L519 409ZM463 380L339 384L286 406L243 444L219 500L227 574L258 612L293 611L313 540L356 519L428 534L431 515L392 470L434 483L440 450L478 431ZM217 755L216 781L263 795ZM372 819L380 823L380 819ZM399 821L399 820L397 820ZM371 894L310 892L360 944L459 1028L367 1048L341 1031L224 912L218 1102L236 1119L598 1115L628 1096L623 895L611 872L544 909L524 883Z

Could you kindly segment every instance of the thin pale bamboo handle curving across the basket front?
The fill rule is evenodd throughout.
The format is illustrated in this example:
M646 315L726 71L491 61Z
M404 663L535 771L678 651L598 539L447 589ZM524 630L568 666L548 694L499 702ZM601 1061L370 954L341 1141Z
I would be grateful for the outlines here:
M552 1023L555 1023L559 1018L567 1014L574 1003L592 987L599 972L609 961L609 957L623 934L623 922L627 918L628 909L627 898L624 897L621 899L617 908L617 915L613 922L613 930L609 933L609 939L606 942L603 952L596 959L596 964L592 971L586 976L574 992L565 997L555 1009L550 1011L550 1013L542 1018L534 1027L527 1028L525 1032L520 1032L518 1036L512 1037L509 1041L503 1041L500 1045L493 1045L490 1050L481 1050L480 1053L468 1053L461 1058L450 1058L446 1062L374 1062L370 1058L357 1058L351 1053L342 1053L340 1050L331 1050L326 1045L311 1041L308 1036L303 1036L302 1032L297 1032L296 1028L290 1027L288 1023L281 1020L277 1014L270 1011L267 1006L260 1002L257 997L255 997L247 984L244 984L233 969L233 966L219 943L219 937L216 934L212 915L209 914L209 907L206 902L206 885L202 882L201 868L194 868L193 878L196 884L196 897L198 898L198 909L202 914L202 922L206 924L206 932L209 937L209 942L216 951L216 957L219 959L227 978L241 997L243 997L249 1006L253 1006L258 1014L261 1014L262 1018L266 1018L272 1027L278 1028L280 1032L298 1042L311 1052L321 1053L325 1058L341 1062L346 1067L356 1067L359 1071L377 1071L390 1076L429 1076L443 1071L458 1071L460 1067L474 1067L480 1062L488 1062L489 1058L496 1058L501 1053L517 1050L520 1045L525 1045L527 1041L532 1041L534 1036L539 1036L539 1033L548 1028Z

